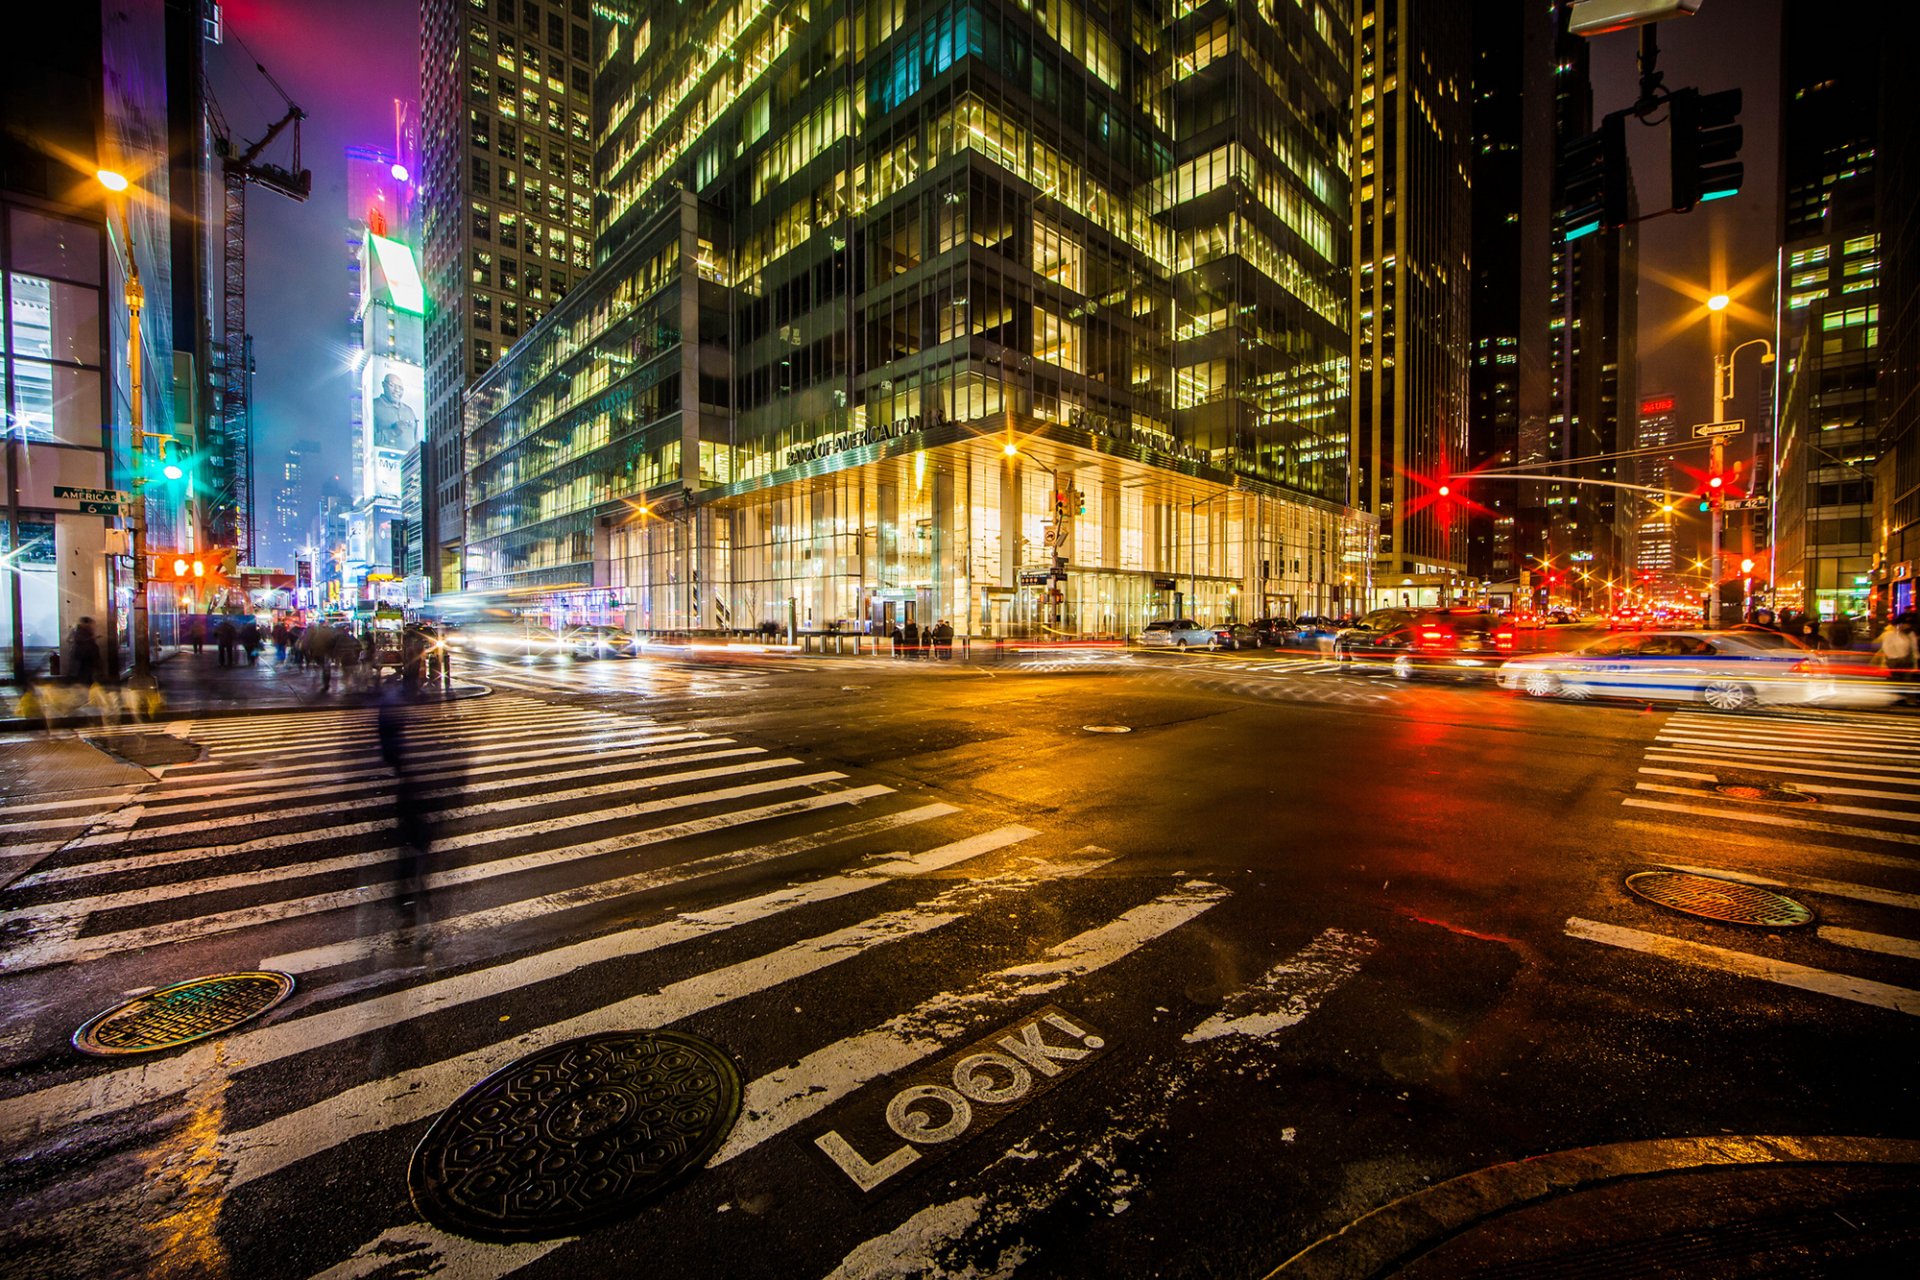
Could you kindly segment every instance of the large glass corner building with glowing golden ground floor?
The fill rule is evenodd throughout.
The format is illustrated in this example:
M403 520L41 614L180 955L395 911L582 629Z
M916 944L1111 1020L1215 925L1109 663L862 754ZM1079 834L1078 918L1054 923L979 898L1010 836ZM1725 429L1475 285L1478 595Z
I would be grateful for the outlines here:
M599 265L468 395L467 585L645 629L1356 608L1311 13L597 19Z

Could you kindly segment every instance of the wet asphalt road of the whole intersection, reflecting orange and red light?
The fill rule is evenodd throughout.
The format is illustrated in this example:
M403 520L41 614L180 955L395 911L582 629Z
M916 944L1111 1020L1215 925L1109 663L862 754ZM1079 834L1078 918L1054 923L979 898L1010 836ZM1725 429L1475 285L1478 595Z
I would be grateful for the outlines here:
M0 892L0 1272L1258 1276L1507 1159L1920 1136L1907 714L1267 654L470 674L495 693L407 720L424 890L365 710L177 723L200 758L131 796L0 806L31 864ZM1626 890L1659 867L1816 923ZM250 969L298 986L227 1036L67 1042ZM447 1103L649 1027L745 1080L703 1169L580 1238L420 1221Z

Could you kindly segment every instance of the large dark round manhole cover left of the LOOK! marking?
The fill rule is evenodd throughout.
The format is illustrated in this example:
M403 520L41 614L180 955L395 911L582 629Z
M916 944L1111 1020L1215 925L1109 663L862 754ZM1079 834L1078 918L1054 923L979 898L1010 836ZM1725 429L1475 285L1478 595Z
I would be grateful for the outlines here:
M620 1031L528 1054L440 1113L413 1207L474 1240L547 1240L632 1213L707 1163L739 1117L716 1044Z

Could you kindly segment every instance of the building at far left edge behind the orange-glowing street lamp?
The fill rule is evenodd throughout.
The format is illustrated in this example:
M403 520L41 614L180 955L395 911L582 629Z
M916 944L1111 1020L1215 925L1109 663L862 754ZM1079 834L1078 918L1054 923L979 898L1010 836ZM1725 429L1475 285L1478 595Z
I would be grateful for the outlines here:
M184 486L157 484L157 441L136 449L132 436L136 403L144 430L175 422L165 27L161 0L115 6L113 21L79 6L60 40L0 77L0 672L12 679L48 674L83 618L102 641L96 672L123 668L132 507L169 535L184 520ZM100 169L127 188L106 190ZM102 514L113 509L83 505L88 489L131 501ZM156 587L150 604L165 635L171 591Z

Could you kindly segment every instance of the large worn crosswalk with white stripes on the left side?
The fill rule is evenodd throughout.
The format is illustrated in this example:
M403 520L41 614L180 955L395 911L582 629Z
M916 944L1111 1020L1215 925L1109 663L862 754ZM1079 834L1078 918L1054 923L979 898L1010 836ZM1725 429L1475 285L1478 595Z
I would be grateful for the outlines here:
M60 848L0 890L0 990L42 1017L56 983L90 992L71 1023L207 971L300 984L248 1027L132 1065L75 1071L44 1040L0 1044L8 1167L71 1178L71 1153L86 1151L102 1171L58 1194L48 1173L44 1205L29 1186L0 1251L25 1247L10 1232L31 1219L29 1244L84 1255L92 1224L144 1203L115 1161L184 1144L188 1199L215 1205L234 1274L505 1276L588 1245L449 1236L396 1188L442 1107L538 1048L647 1027L728 1044L743 1113L685 1192L697 1213L722 1213L774 1169L837 1178L814 1144L835 1105L1044 1006L1098 1007L1152 1063L1112 1103L1137 1132L1213 1073L1258 1065L1375 946L1263 921L1267 967L1181 1023L1152 992L1213 969L1210 929L1238 910L1231 885L1129 875L1104 848L649 716L507 691L422 704L407 714L403 783L378 729L374 708L182 725L204 758L156 768L119 808L50 835ZM415 879L401 796L432 829ZM1043 1173L983 1174L995 1232L1018 1232L1071 1182L1054 1167L1044 1192ZM958 1247L987 1221L947 1213L935 1232L912 1226L920 1213L893 1199L837 1234L808 1224L793 1267L768 1261L768 1274L877 1274L860 1259L902 1257L912 1240ZM134 1244L165 1240L179 1245L167 1232Z

